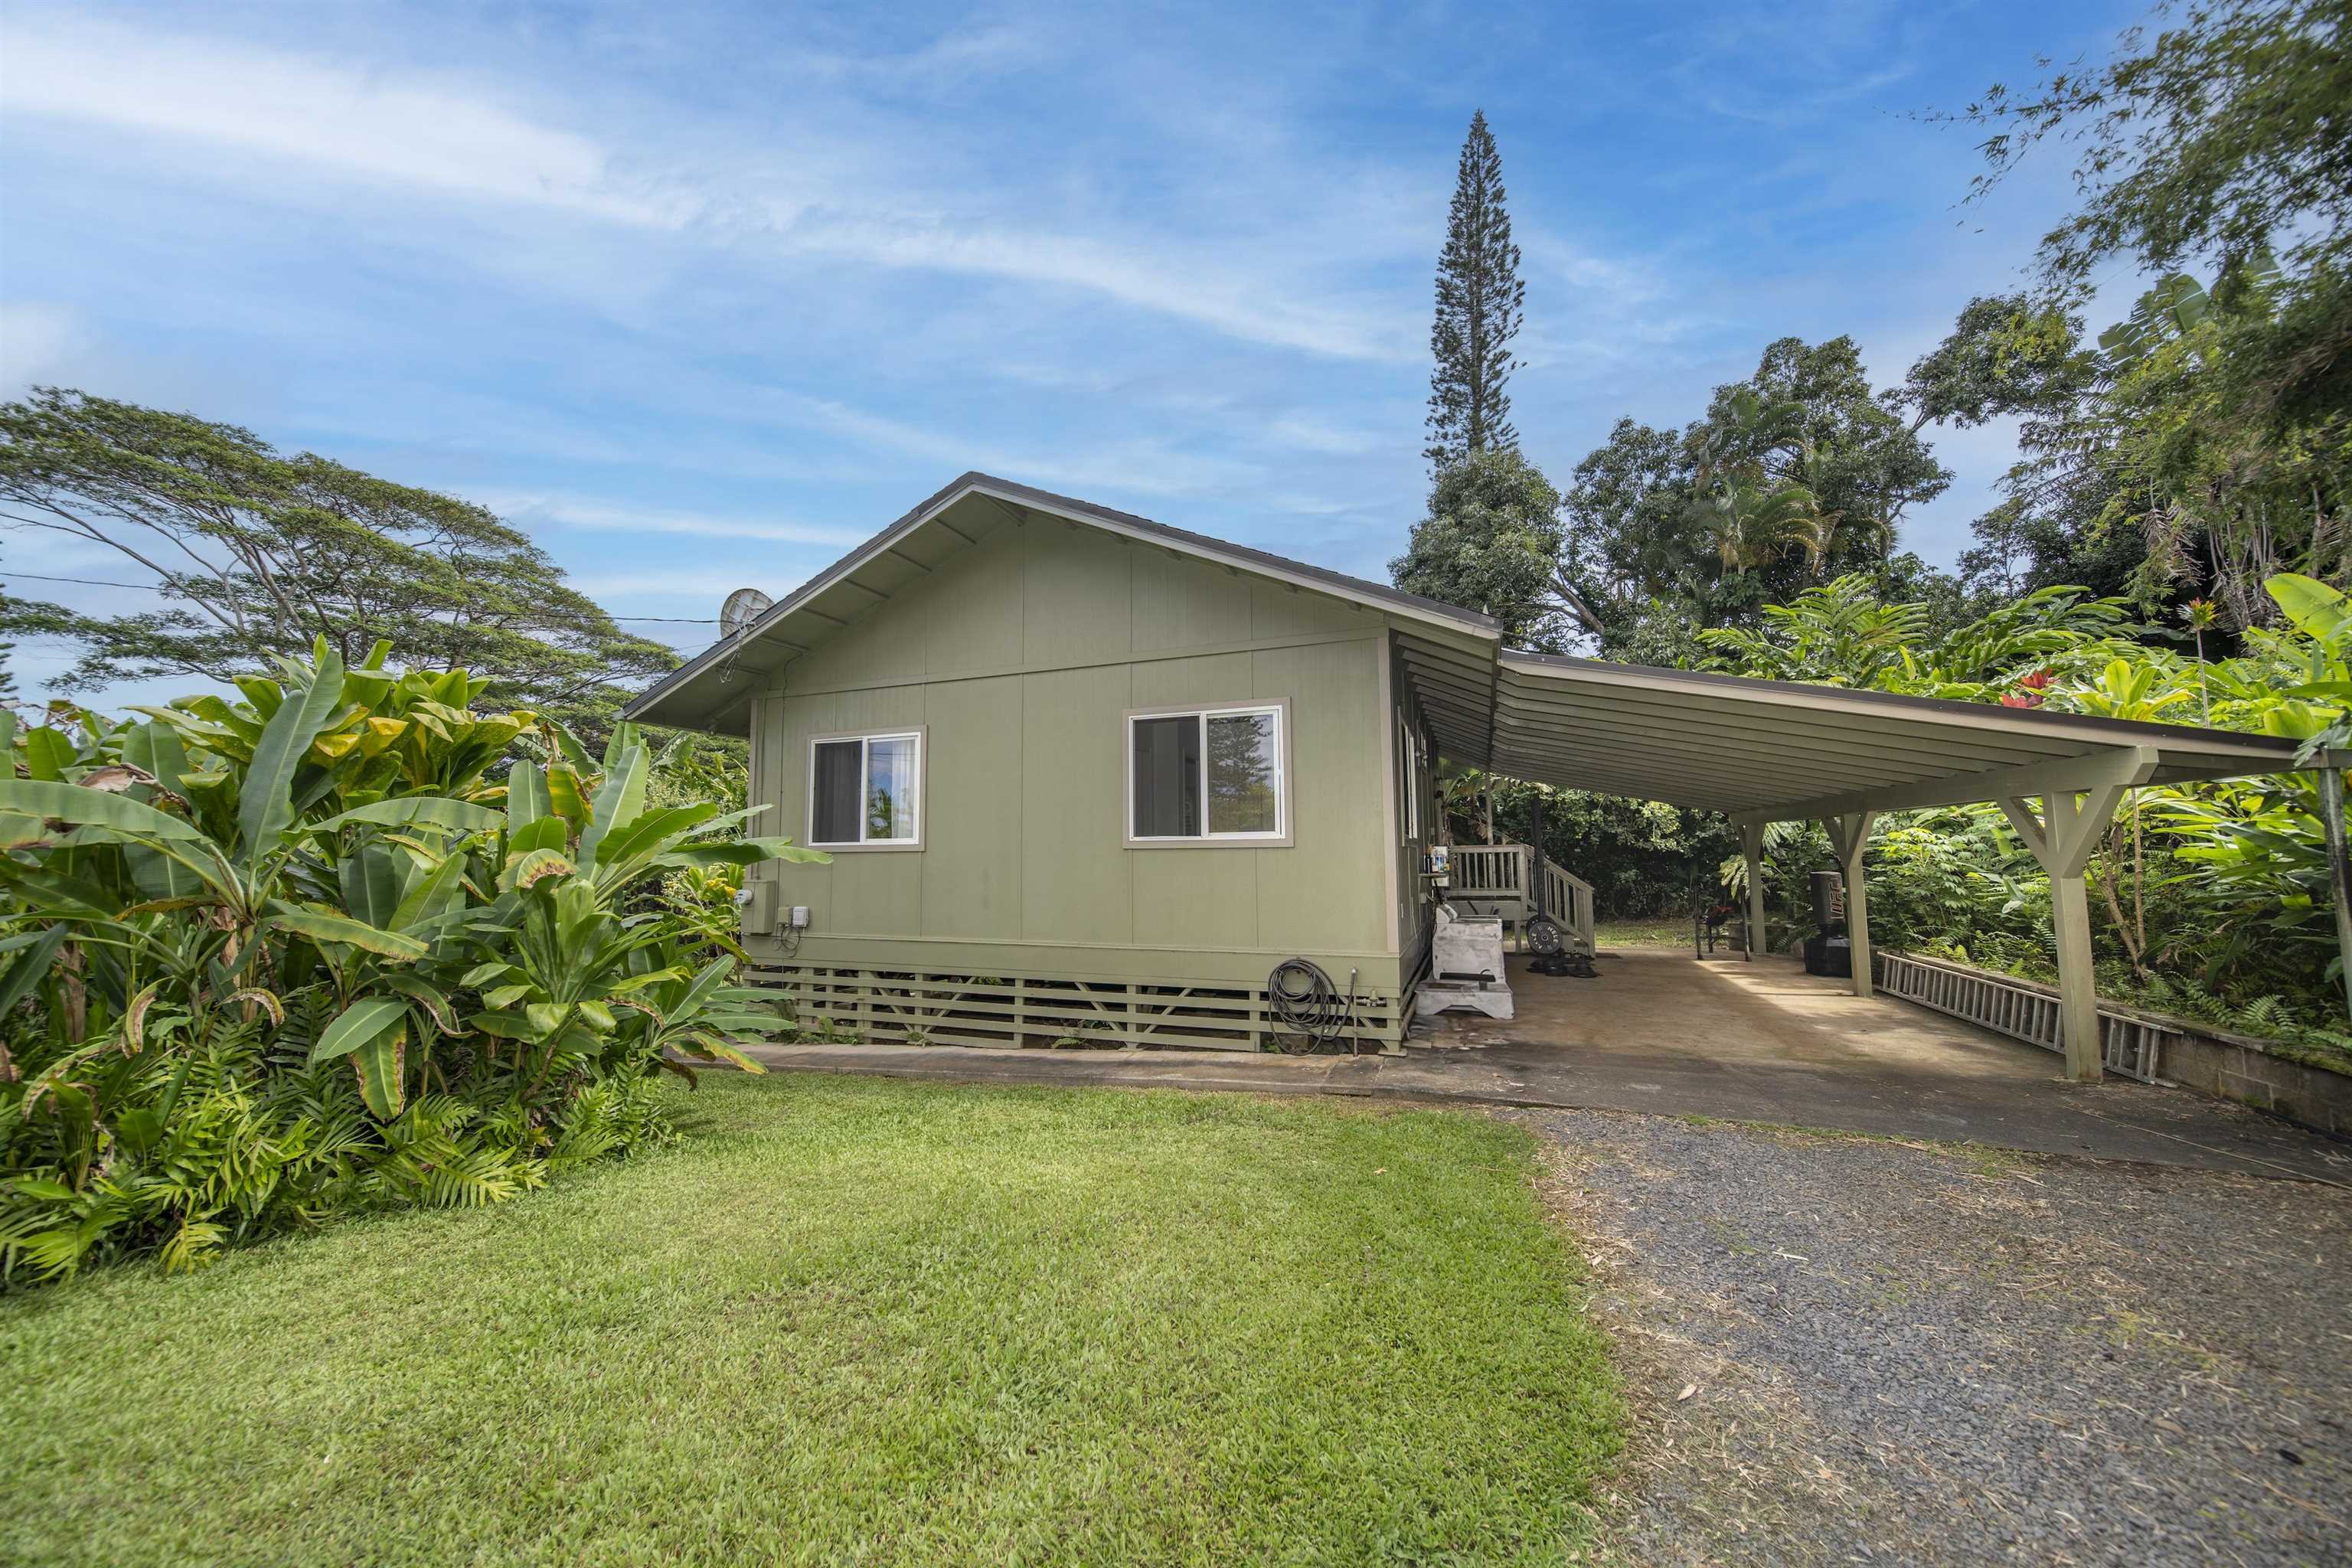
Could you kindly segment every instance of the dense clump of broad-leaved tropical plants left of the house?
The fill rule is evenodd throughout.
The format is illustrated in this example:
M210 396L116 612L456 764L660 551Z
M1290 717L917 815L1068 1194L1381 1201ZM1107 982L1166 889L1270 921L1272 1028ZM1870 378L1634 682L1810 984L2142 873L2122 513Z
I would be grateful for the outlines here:
M656 1135L675 1053L776 1027L722 933L630 900L809 851L652 804L633 726L590 757L386 654L0 712L0 1281L503 1199Z

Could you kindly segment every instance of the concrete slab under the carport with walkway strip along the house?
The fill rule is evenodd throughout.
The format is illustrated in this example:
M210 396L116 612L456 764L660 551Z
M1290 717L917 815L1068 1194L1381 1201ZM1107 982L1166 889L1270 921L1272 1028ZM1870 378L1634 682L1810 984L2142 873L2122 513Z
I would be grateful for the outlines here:
M1983 1143L2352 1185L2352 1145L2180 1088L2065 1084L2060 1060L1790 959L1604 952L1597 980L1529 976L1517 1018L1439 1020L1404 1056L764 1046L769 1067L974 1084L1343 1093L1630 1110Z

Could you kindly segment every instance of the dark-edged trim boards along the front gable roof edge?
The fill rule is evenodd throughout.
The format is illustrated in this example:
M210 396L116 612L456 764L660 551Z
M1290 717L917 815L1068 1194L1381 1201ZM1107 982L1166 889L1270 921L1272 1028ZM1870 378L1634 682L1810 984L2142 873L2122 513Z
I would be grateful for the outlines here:
M1317 588L1322 592L1338 595L1343 599L1357 599L1359 604L1374 604L1381 609L1397 611L1402 616L1414 616L1416 621L1435 621L1449 625L1482 642L1501 642L1503 623L1494 616L1482 616L1470 609L1456 609L1454 604L1439 604L1437 599L1425 599L1418 592L1404 592L1402 588L1388 588L1385 583L1371 583L1364 578L1348 576L1345 571L1329 571L1327 567L1310 567L1308 562L1294 562L1282 555L1270 555L1265 550L1251 550L1249 545L1235 545L1223 538L1209 538L1207 534L1190 534L1185 529L1171 529L1164 522L1152 522L1150 517L1136 517L1134 512L1120 512L1108 505L1096 505L1091 501L1080 501L1075 496L1056 496L1054 491L1035 489L1030 484L1018 484L1014 480L997 480L985 473L967 473L957 477L946 489L936 491L913 510L908 510L898 522L889 524L863 545L856 545L849 555L833 562L807 583L776 599L757 621L743 628L734 637L724 637L680 668L670 670L663 679L647 686L621 717L637 717L673 696L706 670L724 661L731 651L757 642L767 630L781 623L786 616L804 609L809 599L851 578L858 567L870 559L891 552L908 534L931 522L938 512L964 496L993 496L1009 505L1030 508L1037 512L1049 512L1073 522L1084 522L1110 534L1124 534L1129 538L1143 538L1183 555L1192 555L1223 567L1237 567L1242 571L1254 571L1258 576L1270 576L1277 581L1296 583L1301 588ZM814 611L811 611L814 614Z

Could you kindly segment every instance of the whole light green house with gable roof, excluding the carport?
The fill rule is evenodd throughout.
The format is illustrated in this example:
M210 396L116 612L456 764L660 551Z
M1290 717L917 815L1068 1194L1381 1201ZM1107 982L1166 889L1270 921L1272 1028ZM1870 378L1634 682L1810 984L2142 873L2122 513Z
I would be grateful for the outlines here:
M630 717L750 736L746 945L861 1037L1256 1048L1289 957L1402 1037L1486 616L964 475ZM1409 661L1414 661L1409 665ZM804 924L795 924L804 922Z

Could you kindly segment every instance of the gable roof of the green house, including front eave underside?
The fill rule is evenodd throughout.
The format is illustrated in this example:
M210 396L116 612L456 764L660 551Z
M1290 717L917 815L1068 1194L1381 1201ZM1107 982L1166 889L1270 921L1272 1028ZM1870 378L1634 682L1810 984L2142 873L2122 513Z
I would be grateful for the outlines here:
M776 599L739 635L720 637L682 663L633 701L623 717L680 729L739 729L739 710L753 689L764 684L767 675L818 646L858 616L887 604L906 585L948 564L953 555L1023 517L1061 517L1105 534L1138 538L1218 567L1367 604L1406 623L1451 632L1456 639L1472 637L1494 646L1503 642L1503 623L1470 609L1207 534L1171 529L1164 522L1075 496L967 473ZM743 679L746 675L753 679Z

